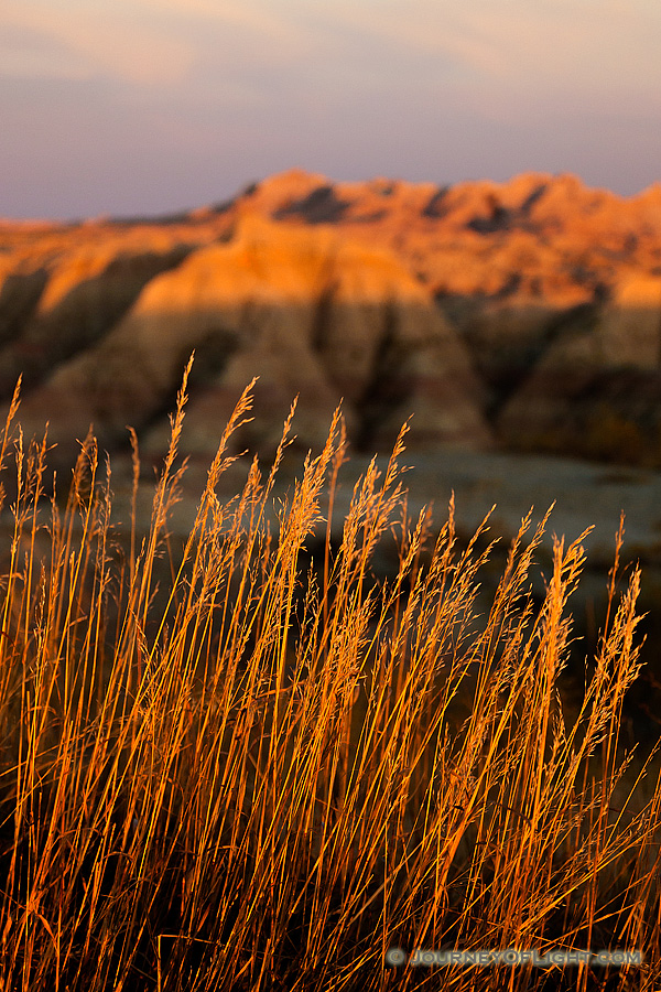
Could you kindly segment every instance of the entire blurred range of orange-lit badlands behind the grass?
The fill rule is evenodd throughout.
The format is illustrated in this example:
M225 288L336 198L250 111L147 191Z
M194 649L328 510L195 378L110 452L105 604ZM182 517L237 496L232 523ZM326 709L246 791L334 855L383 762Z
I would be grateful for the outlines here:
M0 400L61 464L90 422L162 453L197 358L184 445L272 449L292 397L303 449L344 398L349 436L661 464L661 187L568 175L456 186L292 171L160 220L0 224ZM68 446L67 446L68 444Z

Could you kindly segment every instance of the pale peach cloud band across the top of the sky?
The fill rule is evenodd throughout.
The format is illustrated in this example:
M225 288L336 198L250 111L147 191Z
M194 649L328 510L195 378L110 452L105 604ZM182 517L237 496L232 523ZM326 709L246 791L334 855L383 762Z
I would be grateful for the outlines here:
M635 13L624 0L3 0L1 25L24 33L0 48L6 75L191 84L192 96L198 69L243 90L307 74L329 99L333 78L342 91L358 72L383 94L424 77L511 112L549 94L661 88L658 0Z

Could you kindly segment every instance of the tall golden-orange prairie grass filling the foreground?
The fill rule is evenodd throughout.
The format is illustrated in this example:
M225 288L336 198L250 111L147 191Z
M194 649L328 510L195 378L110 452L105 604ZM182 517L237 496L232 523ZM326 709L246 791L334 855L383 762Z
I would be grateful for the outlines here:
M535 529L524 519L478 621L487 521L460 548L452 503L436 537L429 514L408 520L405 429L387 472L372 464L361 477L332 547L346 451L337 413L271 533L291 416L269 474L254 461L234 500L216 495L249 387L173 553L189 369L144 539L134 511L126 533L113 525L91 434L66 506L53 495L44 518L47 440L24 452L17 387L0 446L6 465L13 432L0 989L659 989L661 786L653 762L627 777L618 743L640 647L639 572L616 594L621 530L608 616L568 722L557 677L582 538L555 540L535 607L530 575L549 515ZM323 560L304 567L319 528ZM390 531L399 573L377 582L370 562ZM440 970L389 967L392 948L624 949L643 960Z

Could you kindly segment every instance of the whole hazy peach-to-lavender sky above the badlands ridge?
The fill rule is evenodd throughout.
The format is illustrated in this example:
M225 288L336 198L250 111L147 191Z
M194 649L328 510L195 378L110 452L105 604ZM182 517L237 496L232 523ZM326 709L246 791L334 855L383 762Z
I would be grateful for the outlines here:
M286 169L661 179L659 0L2 0L0 216L158 215Z

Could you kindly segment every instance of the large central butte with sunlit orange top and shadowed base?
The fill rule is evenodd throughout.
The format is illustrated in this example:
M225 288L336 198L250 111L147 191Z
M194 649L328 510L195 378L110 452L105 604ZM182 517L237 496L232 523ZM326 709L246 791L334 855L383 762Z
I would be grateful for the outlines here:
M58 317L63 308L56 289L65 262L54 269L42 295L46 305L40 302L18 346L34 341L39 330L50 348L54 368L37 385L29 382L21 420L30 434L48 416L61 459L71 460L73 439L90 422L107 446L126 441L131 424L143 435L145 453L163 454L165 414L193 349L197 360L182 444L194 454L214 453L252 376L260 377L254 420L236 443L262 455L274 451L296 393L295 430L305 450L323 445L343 398L359 448L391 446L410 414L414 444L488 444L479 382L464 345L391 251L353 244L330 228L281 229L247 216L231 239L198 248L175 267L173 254L158 258L163 271L145 280L106 333L97 327L109 309L109 279L96 322L94 308L80 306L71 334L57 334L51 315ZM142 262L132 285L143 271ZM74 292L79 299L80 283L65 300ZM13 357L17 343L12 347ZM29 367L34 374L34 364Z

